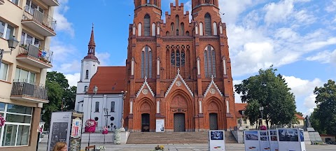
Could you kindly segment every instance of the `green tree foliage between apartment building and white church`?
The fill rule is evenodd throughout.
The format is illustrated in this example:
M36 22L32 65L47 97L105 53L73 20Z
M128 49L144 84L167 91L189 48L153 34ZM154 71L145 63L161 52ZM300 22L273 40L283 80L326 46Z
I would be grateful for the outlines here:
M45 122L45 127L50 126L51 113L62 110L73 110L76 101L76 89L77 87L69 87L68 80L63 73L57 73L56 71L48 72L45 87L48 88L48 100L49 103L43 104L43 110L45 113L42 116Z

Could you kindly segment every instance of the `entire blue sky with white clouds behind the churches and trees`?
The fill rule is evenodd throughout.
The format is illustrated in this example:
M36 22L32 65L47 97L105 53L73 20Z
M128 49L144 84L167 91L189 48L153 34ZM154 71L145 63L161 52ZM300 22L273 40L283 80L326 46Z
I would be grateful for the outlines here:
M80 60L87 54L92 22L102 66L125 66L133 0L59 0L57 36L52 38L53 68L76 85ZM162 19L169 3L162 0ZM191 10L190 0L185 10ZM220 0L227 24L234 84L271 64L286 78L297 110L316 107L314 87L336 80L336 0ZM129 16L131 15L131 17ZM241 102L235 95L236 102Z

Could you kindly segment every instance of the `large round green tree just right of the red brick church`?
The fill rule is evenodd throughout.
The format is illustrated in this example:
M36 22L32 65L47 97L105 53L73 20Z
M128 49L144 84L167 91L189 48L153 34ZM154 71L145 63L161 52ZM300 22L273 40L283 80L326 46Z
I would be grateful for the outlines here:
M275 74L272 66L266 70L259 70L258 75L243 80L235 85L235 91L241 95L241 101L248 103L246 117L250 121L261 117L260 106L263 107L262 119L272 125L290 124L295 119L295 96L290 92L286 80L282 75Z

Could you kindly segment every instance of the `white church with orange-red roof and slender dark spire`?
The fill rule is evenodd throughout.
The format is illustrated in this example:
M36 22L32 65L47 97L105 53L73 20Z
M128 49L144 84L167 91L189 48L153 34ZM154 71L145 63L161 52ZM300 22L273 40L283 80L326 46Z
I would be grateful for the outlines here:
M125 66L99 66L95 53L94 29L92 27L87 56L81 62L80 80L77 83L74 110L84 114L83 122L93 119L96 131L109 127L109 131L119 129L123 116L123 96L125 93ZM97 93L94 94L94 87ZM83 124L83 131L85 125Z

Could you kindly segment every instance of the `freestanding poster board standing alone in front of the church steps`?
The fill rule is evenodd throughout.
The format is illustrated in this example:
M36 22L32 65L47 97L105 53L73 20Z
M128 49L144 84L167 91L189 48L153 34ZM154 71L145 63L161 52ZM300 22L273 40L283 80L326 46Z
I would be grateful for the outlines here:
M224 131L209 131L209 150L225 150Z

